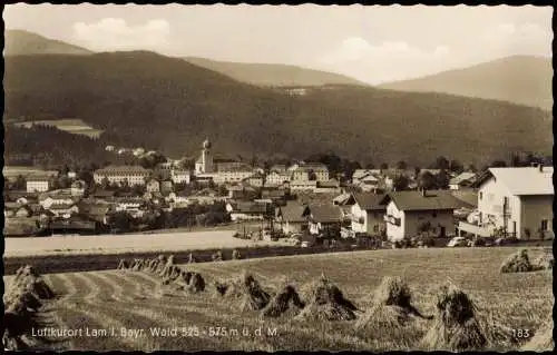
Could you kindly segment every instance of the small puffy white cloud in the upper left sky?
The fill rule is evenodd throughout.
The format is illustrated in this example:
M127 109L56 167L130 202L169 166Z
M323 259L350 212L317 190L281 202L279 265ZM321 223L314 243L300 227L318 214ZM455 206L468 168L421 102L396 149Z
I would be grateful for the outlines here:
M163 19L129 26L124 19L105 18L95 23L74 23L74 38L95 50L159 49L169 41L170 26Z

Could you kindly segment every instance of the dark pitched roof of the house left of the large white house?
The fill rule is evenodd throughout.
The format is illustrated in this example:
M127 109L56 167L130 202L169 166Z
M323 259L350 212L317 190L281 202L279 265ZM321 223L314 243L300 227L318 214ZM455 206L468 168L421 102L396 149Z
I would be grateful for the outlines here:
M393 200L401 210L439 210L457 209L462 203L447 190L429 190L426 196L421 191L395 191L387 194L382 204Z

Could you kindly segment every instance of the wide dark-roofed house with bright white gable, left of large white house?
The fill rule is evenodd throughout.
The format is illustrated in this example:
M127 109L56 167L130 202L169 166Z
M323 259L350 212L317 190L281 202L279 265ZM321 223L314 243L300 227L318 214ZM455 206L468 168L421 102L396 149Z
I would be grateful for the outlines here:
M391 241L429 231L439 237L455 235L455 210L462 201L444 190L397 191L387 194L384 220Z

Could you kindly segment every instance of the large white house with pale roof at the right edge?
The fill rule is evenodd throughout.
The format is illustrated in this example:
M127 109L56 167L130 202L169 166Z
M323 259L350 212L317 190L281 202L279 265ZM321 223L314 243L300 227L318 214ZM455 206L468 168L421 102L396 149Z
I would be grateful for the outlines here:
M490 168L478 177L478 219L459 223L460 233L535 239L553 236L553 167Z

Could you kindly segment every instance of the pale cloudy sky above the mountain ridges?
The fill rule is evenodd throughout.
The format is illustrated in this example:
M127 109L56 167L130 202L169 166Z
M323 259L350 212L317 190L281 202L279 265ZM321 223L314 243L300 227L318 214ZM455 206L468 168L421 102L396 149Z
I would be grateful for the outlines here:
M7 29L95 51L295 65L372 85L551 57L551 7L8 4Z

